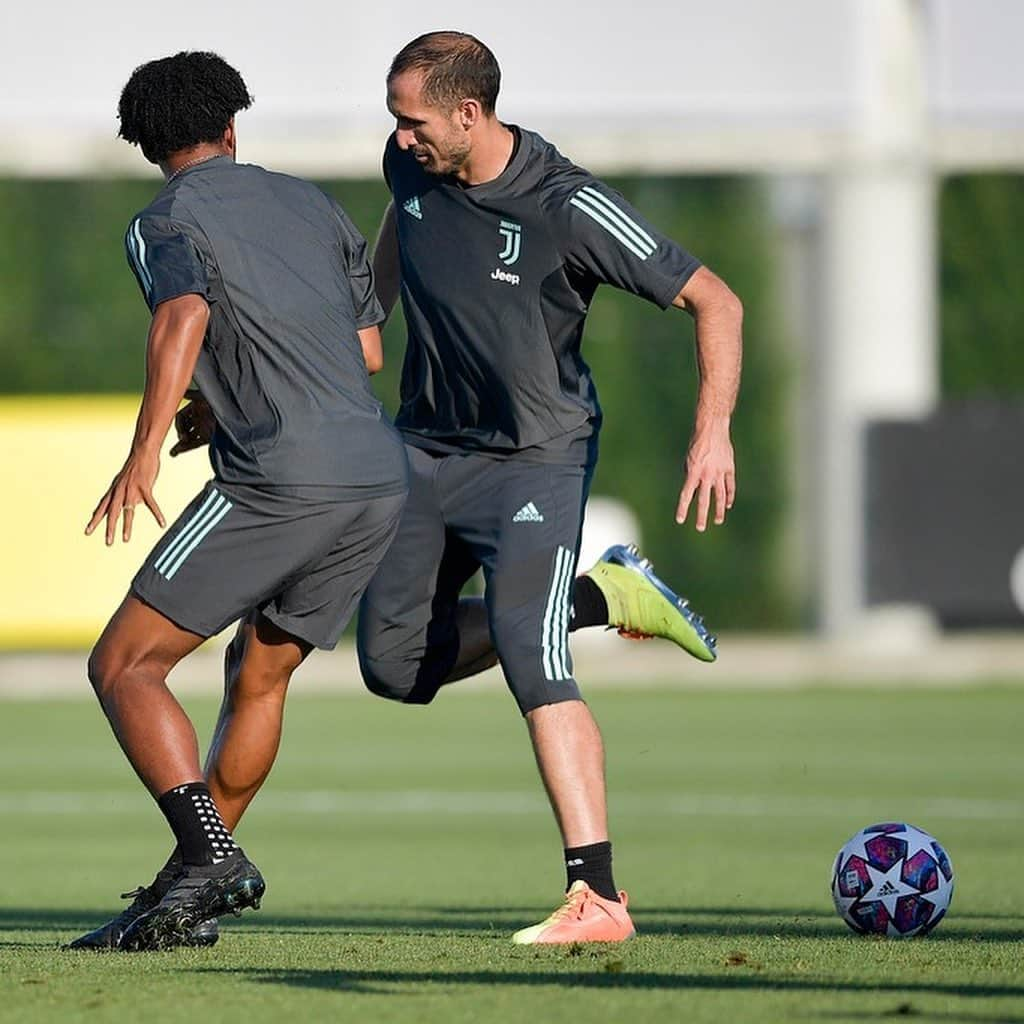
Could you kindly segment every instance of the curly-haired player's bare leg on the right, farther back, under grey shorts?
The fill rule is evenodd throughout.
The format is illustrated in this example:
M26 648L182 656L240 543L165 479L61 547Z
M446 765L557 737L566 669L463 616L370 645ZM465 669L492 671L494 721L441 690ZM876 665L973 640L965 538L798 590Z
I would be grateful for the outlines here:
M234 828L278 756L292 673L311 650L260 614L239 626L224 660L224 699L206 759L206 779Z

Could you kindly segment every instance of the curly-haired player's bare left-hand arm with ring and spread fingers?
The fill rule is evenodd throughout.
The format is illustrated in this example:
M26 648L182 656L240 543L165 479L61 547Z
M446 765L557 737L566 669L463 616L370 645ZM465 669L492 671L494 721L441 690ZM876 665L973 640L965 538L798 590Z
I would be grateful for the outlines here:
M161 526L166 524L153 497L160 472L160 449L191 380L209 318L210 307L199 295L169 299L153 314L145 350L145 390L131 451L85 527L86 534L92 534L105 517L108 545L114 543L122 511L122 538L131 540L135 505L139 502L145 503Z

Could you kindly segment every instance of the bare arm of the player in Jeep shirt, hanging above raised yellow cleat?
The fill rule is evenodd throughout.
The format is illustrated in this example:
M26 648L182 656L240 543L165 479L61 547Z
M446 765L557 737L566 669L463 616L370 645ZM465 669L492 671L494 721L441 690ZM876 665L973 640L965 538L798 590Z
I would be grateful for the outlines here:
M743 306L732 290L707 267L683 286L673 305L696 322L697 389L693 434L686 454L686 477L676 509L685 522L696 496L696 528L708 526L712 495L716 524L725 522L736 497L736 467L729 423L739 392Z

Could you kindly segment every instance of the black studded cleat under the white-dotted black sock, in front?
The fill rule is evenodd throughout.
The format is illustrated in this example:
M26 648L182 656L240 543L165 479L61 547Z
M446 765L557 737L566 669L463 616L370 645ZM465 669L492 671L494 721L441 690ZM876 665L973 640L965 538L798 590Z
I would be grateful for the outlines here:
M198 926L246 907L259 909L266 890L259 868L239 851L219 864L186 866L163 899L125 930L121 949L172 949L193 944ZM214 922L216 925L216 922Z

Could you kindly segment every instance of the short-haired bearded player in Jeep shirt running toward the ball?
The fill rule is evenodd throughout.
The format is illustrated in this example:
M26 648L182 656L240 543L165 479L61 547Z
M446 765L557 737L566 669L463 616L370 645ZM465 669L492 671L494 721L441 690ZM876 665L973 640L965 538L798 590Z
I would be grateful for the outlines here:
M514 941L615 941L634 928L612 880L604 752L572 676L570 608L573 627L658 632L621 616L646 607L674 621L691 652L714 651L685 632L682 602L626 549L572 584L601 422L580 352L584 321L600 284L694 316L700 381L676 517L695 502L702 530L713 502L721 523L735 494L742 307L622 196L540 135L502 123L499 82L487 47L457 32L415 39L388 75L392 203L374 266L385 310L400 292L409 329L395 422L411 483L362 599L359 660L373 691L422 703L497 650L567 870L564 902ZM460 601L480 566L482 604Z

